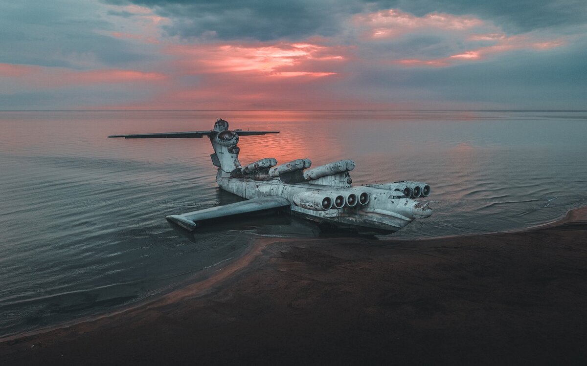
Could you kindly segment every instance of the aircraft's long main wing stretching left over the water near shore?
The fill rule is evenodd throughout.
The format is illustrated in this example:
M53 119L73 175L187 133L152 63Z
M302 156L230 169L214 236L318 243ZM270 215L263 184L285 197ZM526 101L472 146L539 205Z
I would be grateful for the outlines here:
M264 211L266 209L289 206L288 199L278 196L266 196L248 199L247 201L235 202L224 206L216 206L201 209L199 211L182 213L181 215L170 215L166 219L177 223L182 228L194 231L196 222L208 219L221 218L224 216L238 215L239 213Z

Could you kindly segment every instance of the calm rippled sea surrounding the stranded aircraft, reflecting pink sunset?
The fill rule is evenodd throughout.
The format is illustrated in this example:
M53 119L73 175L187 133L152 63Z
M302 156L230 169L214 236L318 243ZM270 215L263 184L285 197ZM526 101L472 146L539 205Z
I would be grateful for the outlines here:
M587 112L0 112L0 335L153 298L259 235L319 235L287 216L177 231L166 215L239 200L216 187L209 141L106 138L209 130L218 117L282 131L242 137L243 163L350 158L356 185L429 183L433 216L393 237L526 228L587 198Z

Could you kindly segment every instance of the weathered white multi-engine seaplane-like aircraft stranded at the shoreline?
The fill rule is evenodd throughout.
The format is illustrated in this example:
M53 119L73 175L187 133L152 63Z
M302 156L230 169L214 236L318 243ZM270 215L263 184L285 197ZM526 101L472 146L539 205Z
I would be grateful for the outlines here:
M430 201L416 198L430 195L430 185L396 181L385 184L352 186L349 172L352 160L340 160L311 168L308 158L277 165L275 158L264 158L248 165L238 161L239 137L275 134L279 131L229 130L228 122L218 119L208 131L110 135L124 138L210 138L218 167L218 186L246 201L198 211L169 215L167 220L193 232L212 219L249 215L285 209L292 215L318 223L322 232L389 234L417 218L432 214ZM311 168L311 169L310 169Z

